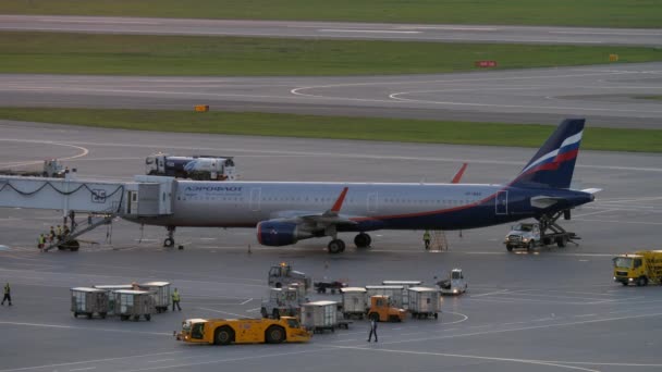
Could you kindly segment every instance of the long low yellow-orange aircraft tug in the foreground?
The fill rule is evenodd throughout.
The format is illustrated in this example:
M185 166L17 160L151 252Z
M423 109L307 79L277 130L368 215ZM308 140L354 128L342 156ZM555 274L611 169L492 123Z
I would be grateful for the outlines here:
M306 343L310 333L296 318L281 319L187 319L177 340L192 344L280 344Z

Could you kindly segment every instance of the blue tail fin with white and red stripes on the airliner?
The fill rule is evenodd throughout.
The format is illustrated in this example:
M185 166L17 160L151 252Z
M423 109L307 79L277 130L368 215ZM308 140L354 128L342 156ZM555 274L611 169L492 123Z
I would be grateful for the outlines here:
M569 188L585 121L564 120L511 186Z

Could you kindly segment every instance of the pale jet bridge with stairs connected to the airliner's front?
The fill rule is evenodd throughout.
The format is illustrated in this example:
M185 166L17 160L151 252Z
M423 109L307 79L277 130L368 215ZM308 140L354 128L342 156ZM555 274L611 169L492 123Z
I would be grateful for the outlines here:
M135 176L134 182L77 179L75 173L64 178L0 176L0 208L26 208L87 212L96 215L78 224L62 239L45 247L78 249L75 238L117 215L127 218L172 214L176 187L173 177Z

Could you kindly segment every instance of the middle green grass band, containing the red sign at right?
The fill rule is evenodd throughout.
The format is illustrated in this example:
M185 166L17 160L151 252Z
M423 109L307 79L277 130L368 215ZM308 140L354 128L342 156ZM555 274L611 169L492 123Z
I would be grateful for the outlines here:
M242 37L0 33L0 73L372 75L662 61L662 49Z

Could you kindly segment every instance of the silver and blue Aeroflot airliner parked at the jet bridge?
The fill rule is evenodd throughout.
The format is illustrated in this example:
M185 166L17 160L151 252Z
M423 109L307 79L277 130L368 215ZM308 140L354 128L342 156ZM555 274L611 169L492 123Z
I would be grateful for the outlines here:
M584 119L565 120L505 185L303 182L177 183L173 213L140 219L167 226L256 227L265 246L286 246L330 236L330 253L345 249L338 233L356 232L354 244L370 246L367 232L467 230L536 218L555 221L593 201L599 189L569 189Z

